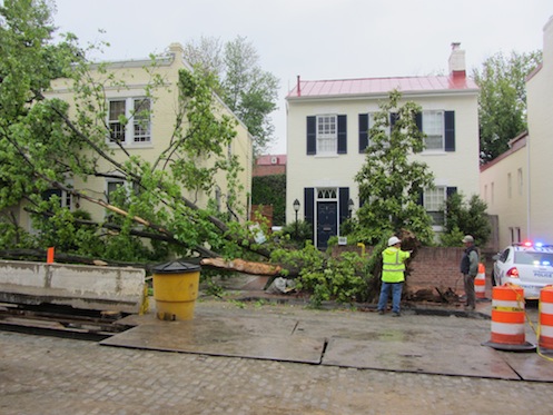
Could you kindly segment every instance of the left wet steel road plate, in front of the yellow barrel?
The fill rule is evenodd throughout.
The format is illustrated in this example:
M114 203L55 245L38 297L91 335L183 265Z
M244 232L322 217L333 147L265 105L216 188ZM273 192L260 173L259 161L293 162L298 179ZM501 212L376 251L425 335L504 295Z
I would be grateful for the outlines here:
M267 318L195 318L150 322L100 342L154 350L269 360L320 363L324 339L292 335L295 320ZM270 333L267 333L267 326Z

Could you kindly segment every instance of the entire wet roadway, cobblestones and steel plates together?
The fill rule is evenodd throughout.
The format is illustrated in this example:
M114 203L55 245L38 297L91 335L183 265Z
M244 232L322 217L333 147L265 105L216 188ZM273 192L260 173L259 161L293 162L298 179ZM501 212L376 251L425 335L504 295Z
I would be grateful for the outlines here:
M482 346L490 309L200 299L101 343L0 332L0 413L553 414L553 362Z

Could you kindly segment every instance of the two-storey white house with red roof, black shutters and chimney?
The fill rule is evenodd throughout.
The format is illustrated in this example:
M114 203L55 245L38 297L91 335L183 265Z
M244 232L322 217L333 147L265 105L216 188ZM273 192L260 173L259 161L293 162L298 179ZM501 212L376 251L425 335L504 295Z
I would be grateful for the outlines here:
M478 87L466 76L465 52L452 45L450 75L343 80L302 80L287 101L286 217L313 224L314 244L327 246L340 235L340 224L359 206L355 175L365 161L372 116L397 89L403 101L422 107L418 125L427 135L426 149L413 156L426 162L436 188L422 202L443 224L447 195L471 197L478 186ZM297 204L296 204L297 206Z

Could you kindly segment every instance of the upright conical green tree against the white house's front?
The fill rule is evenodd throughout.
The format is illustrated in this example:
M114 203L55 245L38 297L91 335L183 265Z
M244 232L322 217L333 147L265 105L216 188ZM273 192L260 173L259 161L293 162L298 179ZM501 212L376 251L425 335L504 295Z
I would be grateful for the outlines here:
M374 115L365 164L355 176L362 200L355 234L368 244L399 229L425 243L433 237L431 218L418 202L424 189L433 187L433 175L426 164L409 161L411 155L424 149L424 135L415 121L421 107L412 101L401 105L401 97L392 91Z

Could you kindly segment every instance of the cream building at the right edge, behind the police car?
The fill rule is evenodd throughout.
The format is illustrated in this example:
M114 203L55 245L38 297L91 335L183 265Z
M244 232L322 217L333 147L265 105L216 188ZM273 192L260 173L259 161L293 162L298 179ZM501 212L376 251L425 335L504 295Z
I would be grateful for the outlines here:
M498 248L526 239L553 243L553 17L543 28L543 63L526 80L529 131L482 167L481 198L498 218Z

